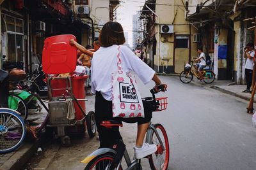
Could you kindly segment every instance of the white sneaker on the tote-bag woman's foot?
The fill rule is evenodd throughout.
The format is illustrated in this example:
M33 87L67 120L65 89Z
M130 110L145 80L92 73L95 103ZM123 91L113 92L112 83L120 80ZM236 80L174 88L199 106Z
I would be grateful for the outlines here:
M148 143L143 143L141 148L134 147L134 155L136 159L142 159L143 157L146 157L148 155L151 155L152 153L155 153L157 150L156 145L149 145Z

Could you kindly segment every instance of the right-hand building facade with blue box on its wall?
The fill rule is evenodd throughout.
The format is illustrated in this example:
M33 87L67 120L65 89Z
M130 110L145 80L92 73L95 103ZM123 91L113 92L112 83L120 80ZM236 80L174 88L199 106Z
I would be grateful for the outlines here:
M244 83L244 50L254 39L252 21L255 1L186 1L186 18L198 28L200 46L214 60L214 73L218 80Z

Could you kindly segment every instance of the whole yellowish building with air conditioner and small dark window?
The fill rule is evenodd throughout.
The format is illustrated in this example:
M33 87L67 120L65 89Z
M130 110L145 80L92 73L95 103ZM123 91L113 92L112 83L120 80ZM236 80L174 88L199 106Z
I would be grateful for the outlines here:
M181 7L182 6L182 7ZM196 28L184 17L183 1L148 0L141 10L147 64L158 73L180 73L197 57Z

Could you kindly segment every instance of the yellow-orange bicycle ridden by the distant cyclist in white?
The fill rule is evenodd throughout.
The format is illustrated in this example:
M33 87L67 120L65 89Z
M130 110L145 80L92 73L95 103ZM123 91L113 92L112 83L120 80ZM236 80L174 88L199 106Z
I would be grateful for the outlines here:
M192 70L192 66L193 61L191 61L191 65L186 64L186 66L184 67L184 71L180 73L179 78L182 83L190 83L193 80L194 76L196 76L196 78L200 80L200 75ZM210 68L202 70L202 80L207 84L212 83L215 80L215 74L213 73L213 71L211 71Z

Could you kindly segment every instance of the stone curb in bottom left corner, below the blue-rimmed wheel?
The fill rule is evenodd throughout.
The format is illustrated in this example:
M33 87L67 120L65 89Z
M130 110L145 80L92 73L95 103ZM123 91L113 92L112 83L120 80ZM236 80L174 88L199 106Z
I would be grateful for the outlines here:
M40 139L37 139L33 143L24 143L17 151L10 157L10 159L6 160L4 164L0 167L0 170L15 170L20 169L28 160L33 156L36 152Z

